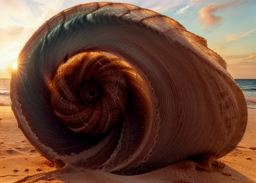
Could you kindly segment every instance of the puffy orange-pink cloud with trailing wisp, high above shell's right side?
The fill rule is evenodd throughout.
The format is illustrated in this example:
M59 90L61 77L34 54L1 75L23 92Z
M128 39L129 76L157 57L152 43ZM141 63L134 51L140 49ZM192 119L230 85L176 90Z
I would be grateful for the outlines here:
M220 4L208 4L207 6L201 8L198 12L199 14L199 23L203 24L202 28L217 28L219 25L222 24L223 17L222 16L217 16L215 13L220 12L226 8L229 7L239 7L241 5L244 5L248 1L239 1L239 0L231 0L229 2L225 3L220 3Z

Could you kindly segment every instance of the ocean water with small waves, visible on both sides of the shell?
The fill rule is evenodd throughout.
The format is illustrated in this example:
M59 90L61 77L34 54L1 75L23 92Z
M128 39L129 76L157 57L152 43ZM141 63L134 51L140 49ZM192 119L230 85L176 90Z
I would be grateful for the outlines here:
M256 103L251 102L256 97L256 79L255 80L235 80L244 93L248 108L256 109ZM0 106L11 105L10 99L10 79L0 79Z

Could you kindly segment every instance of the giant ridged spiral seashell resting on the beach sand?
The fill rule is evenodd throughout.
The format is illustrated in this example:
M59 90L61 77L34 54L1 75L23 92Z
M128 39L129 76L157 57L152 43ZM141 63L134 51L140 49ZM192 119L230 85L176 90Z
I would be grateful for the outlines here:
M60 12L28 40L18 68L10 94L19 127L60 165L141 174L220 158L246 128L244 95L206 40L134 5Z

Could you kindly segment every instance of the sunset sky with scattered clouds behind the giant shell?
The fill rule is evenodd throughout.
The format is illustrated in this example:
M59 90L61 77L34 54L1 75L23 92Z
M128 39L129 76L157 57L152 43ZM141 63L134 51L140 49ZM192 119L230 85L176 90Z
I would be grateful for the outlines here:
M103 1L103 0L101 0ZM204 37L233 78L256 79L256 0L110 0L151 9ZM92 0L0 0L0 78L46 20Z

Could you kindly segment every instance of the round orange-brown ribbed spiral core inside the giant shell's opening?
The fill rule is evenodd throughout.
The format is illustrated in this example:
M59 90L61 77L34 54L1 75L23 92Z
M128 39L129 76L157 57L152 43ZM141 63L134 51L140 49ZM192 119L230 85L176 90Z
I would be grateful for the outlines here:
M53 110L74 132L103 133L125 113L127 86L115 63L120 59L100 53L79 56L57 70L51 84Z

